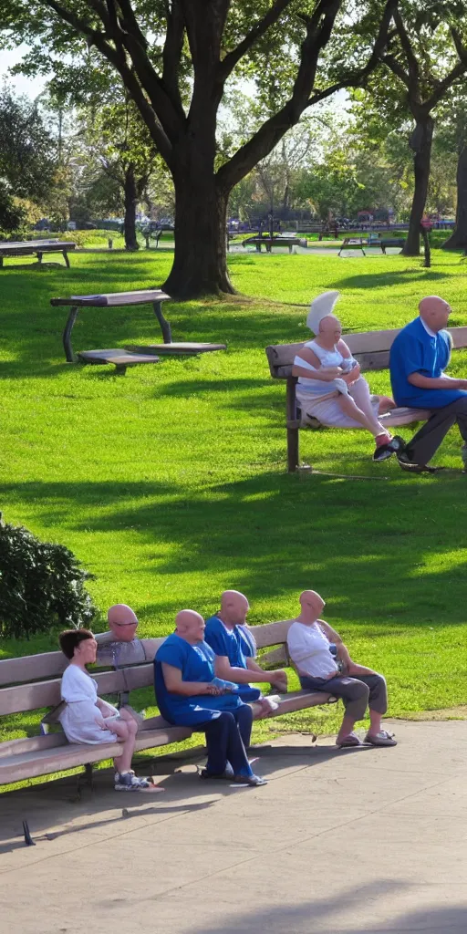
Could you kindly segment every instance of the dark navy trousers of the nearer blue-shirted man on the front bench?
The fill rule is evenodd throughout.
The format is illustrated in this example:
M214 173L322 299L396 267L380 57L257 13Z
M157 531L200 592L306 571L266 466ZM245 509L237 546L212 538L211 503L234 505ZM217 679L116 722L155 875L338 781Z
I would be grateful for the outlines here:
M234 711L223 711L215 720L200 723L205 733L207 771L220 775L230 762L234 775L251 775L246 746L249 745L253 712L244 704Z

